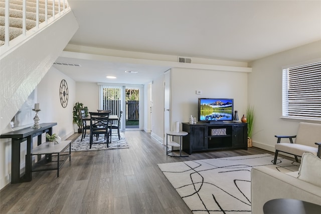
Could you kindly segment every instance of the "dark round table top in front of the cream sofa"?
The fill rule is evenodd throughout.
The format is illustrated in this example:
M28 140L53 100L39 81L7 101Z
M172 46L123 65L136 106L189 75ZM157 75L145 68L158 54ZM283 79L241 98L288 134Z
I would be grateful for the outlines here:
M319 214L321 206L302 200L276 198L264 203L263 212L264 214Z

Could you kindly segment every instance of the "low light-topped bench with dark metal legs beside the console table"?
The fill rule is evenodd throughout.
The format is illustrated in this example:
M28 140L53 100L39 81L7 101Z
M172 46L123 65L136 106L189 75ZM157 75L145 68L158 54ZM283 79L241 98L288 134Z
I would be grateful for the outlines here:
M69 146L69 152L64 152ZM60 154L63 153L63 154ZM59 168L65 163L69 157L71 160L71 140L61 141L59 144L55 144L53 147L49 147L49 143L45 142L37 146L32 150L31 155L42 155L50 156L50 159L38 160L36 164L32 167L32 172L36 171L47 171L47 170L57 170L57 177L59 177ZM53 155L55 154L55 155ZM57 160L52 160L52 157L57 156ZM64 157L64 158L61 158ZM57 162L57 165L54 164Z

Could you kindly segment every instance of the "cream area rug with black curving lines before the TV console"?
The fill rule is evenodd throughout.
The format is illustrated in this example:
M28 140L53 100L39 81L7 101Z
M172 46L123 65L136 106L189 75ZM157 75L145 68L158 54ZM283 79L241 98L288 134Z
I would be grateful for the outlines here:
M299 163L259 154L158 164L193 213L251 213L251 168L298 171ZM263 193L264 194L264 193Z

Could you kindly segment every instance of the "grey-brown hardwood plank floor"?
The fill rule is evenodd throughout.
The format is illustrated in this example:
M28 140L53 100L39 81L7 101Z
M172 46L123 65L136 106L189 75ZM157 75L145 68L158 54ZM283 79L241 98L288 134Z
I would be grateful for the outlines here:
M129 149L72 152L59 177L56 170L34 172L31 182L8 184L0 192L0 212L192 213L157 163L273 153L252 147L176 158L144 131L125 137Z

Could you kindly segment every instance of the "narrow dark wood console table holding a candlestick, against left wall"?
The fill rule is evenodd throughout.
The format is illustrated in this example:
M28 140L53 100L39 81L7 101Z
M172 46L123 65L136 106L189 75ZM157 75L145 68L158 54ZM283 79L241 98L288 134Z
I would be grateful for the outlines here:
M42 134L52 135L52 127L57 123L42 123L39 129L23 128L0 135L0 138L11 138L11 183L28 182L32 180L32 144L33 137L38 136L38 145L41 144ZM25 174L20 176L20 144L27 141Z

